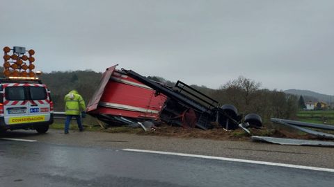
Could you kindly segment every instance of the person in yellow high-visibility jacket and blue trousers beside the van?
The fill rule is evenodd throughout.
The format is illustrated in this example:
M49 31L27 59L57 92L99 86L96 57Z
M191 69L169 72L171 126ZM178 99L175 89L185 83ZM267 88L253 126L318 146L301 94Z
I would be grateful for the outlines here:
M80 96L78 91L72 90L65 96L64 101L66 114L65 134L68 134L68 128L70 127L72 117L75 117L77 119L79 130L80 132L82 132L84 130L84 127L82 127L80 114L84 114L84 111L86 109L84 99Z

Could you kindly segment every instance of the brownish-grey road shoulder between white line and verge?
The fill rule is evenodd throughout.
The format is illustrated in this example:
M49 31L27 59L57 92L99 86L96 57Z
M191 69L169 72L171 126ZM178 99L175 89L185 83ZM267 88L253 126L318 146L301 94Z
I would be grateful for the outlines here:
M1 138L30 139L40 143L55 145L115 148L120 150L132 148L334 168L334 148L276 145L250 140L182 139L122 133L76 132L75 130L71 130L70 134L66 135L63 130L49 130L47 134L37 134L31 130L17 130L0 134Z

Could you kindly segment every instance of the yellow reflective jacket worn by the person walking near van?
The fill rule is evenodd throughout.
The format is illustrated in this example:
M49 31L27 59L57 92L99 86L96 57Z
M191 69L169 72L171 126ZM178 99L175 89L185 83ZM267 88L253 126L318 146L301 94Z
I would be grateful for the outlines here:
M84 99L75 90L70 91L65 97L65 114L80 115L80 111L86 109Z

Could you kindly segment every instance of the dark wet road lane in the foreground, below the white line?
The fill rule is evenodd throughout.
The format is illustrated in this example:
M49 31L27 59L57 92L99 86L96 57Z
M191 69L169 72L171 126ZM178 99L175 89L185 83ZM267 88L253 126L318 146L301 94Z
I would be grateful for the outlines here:
M0 186L332 186L334 172L0 140Z

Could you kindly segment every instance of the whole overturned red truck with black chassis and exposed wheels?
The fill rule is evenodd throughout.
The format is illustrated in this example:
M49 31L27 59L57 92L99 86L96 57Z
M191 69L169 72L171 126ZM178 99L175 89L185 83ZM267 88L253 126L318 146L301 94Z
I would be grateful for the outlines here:
M174 87L154 82L132 70L111 66L102 75L100 85L90 99L87 114L110 125L144 121L164 122L203 130L218 123L225 130L261 127L257 114L248 114L244 122L233 105L221 106L216 100L177 81Z

